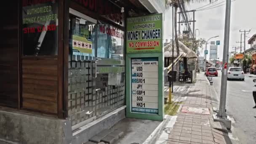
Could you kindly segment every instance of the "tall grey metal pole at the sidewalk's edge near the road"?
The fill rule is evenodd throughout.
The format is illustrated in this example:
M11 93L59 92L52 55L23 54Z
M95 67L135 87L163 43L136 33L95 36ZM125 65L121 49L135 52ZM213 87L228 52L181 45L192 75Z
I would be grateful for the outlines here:
M226 97L227 97L227 63L228 63L228 53L229 53L229 30L230 30L230 12L231 11L231 0L227 0L226 3L226 16L225 16L225 32L224 32L224 48L223 48L223 63L224 70L221 75L221 95L219 112L217 117L227 118L226 114Z

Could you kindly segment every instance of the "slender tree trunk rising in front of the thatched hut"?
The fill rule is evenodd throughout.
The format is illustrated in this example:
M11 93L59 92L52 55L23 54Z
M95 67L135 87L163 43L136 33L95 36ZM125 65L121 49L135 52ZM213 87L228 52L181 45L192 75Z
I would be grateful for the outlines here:
M174 6L174 34L175 34L175 43L176 43L176 51L177 57L179 56L179 40L178 40L178 33L177 33L177 10L178 5ZM179 81L179 62L176 64L176 80Z

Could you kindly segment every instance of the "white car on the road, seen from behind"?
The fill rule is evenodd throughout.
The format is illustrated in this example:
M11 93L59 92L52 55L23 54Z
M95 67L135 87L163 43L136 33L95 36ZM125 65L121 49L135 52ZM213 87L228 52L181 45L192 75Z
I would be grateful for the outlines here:
M229 67L227 71L227 80L238 79L245 80L245 74L241 67Z

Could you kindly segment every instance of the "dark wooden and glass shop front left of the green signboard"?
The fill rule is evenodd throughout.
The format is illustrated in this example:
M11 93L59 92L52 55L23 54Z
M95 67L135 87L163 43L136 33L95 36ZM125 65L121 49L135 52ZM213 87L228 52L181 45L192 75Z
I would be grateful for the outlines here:
M44 130L37 134L48 133L53 126L62 130L48 136L61 140L49 142L86 142L86 137L77 139L97 133L96 128L77 136L71 132L113 111L120 115L109 116L115 120L107 126L125 117L126 19L157 13L159 5L147 8L136 0L7 3L14 6L1 7L9 20L1 30L5 37L0 48L0 125L10 125L11 120L17 131L0 132L0 141L38 142L26 138L29 132L24 128L41 123ZM21 132L24 135L19 136Z

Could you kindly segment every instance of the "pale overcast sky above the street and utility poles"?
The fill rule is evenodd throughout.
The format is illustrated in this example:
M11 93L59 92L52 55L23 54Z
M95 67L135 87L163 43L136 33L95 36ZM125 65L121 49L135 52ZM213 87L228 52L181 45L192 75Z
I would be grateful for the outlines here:
M215 1L215 0L213 0ZM204 5L207 5L203 8L207 8L209 6L215 5L217 3L224 2L226 0L218 0L217 2L209 4L209 0L207 3L191 3L187 5L187 10L193 10L196 8L200 8ZM225 4L221 3L219 5ZM213 8L211 7L211 8ZM218 46L218 57L222 60L223 57L223 47L224 47L224 24L225 24L225 8L226 5L222 5L218 8L213 8L205 11L195 11L195 29L199 29L200 32L197 31L197 38L204 38L208 40L210 37L214 37L219 35L210 41L220 40L221 45ZM240 43L236 43L236 41L240 41L240 32L239 30L250 30L249 34L245 37L246 49L250 48L248 45L249 37L252 37L256 34L256 0L235 0L231 3L231 18L230 18L230 37L229 37L229 52L235 51L232 47L240 46ZM190 13L190 17L192 18L192 13ZM177 16L177 19L179 17ZM172 10L165 11L165 21L164 21L164 40L170 40L172 38ZM192 24L191 24L192 29ZM178 29L178 28L177 28ZM181 30L184 30L184 27L181 27ZM200 33L200 34L198 34ZM244 38L242 37L242 41ZM243 47L244 43L242 44ZM210 46L208 44L207 49L209 51ZM200 51L200 56L204 56L205 45L203 45L203 51ZM240 51L240 50L239 50ZM243 48L242 48L243 52ZM207 55L207 59L209 59L209 55Z

